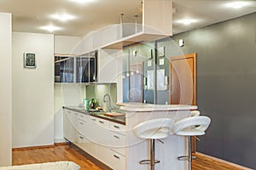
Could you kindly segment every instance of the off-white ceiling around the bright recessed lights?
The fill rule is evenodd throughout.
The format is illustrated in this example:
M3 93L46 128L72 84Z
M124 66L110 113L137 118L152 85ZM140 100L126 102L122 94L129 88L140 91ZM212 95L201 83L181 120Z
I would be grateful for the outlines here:
M40 27L54 25L61 30L55 35L83 36L104 26L119 23L119 14L125 14L125 22L133 22L134 14L142 15L142 0L88 0L74 3L72 0L0 0L0 12L13 14L13 31L49 33ZM256 12L255 0L242 0L248 6L234 9L227 3L233 0L173 0L173 34L208 26L223 20ZM76 16L67 22L54 20L51 14L67 13ZM179 20L194 19L189 26Z

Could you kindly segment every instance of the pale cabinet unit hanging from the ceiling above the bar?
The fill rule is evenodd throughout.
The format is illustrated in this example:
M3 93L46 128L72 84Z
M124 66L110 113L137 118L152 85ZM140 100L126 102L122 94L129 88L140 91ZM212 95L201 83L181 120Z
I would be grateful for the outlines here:
M152 12L154 11L154 12ZM126 24L120 24L119 38L108 44L103 44L102 48L122 49L123 47L140 42L153 42L165 37L172 36L172 1L171 0L143 0L143 25L139 31L125 34ZM131 24L128 24L131 27ZM131 29L130 29L131 31Z

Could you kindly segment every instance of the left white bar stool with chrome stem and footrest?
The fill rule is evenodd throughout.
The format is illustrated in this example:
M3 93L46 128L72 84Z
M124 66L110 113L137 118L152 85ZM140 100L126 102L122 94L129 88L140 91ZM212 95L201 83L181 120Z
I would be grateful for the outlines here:
M154 164L160 163L154 159L154 140L165 139L171 132L173 120L169 118L153 119L147 122L141 122L133 127L133 132L140 139L149 139L150 141L150 160L140 161L140 164L150 164L150 170L154 170Z

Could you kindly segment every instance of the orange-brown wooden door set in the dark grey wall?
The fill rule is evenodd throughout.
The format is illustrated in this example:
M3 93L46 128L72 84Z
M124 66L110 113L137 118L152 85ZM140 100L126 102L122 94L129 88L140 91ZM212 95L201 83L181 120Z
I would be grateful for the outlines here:
M170 104L196 105L196 54L171 57Z

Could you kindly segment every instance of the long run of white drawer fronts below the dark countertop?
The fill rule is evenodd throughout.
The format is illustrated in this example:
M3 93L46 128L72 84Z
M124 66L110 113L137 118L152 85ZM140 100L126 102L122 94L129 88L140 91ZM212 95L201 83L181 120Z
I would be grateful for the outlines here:
M113 170L125 169L124 125L78 111L64 113L66 139Z

